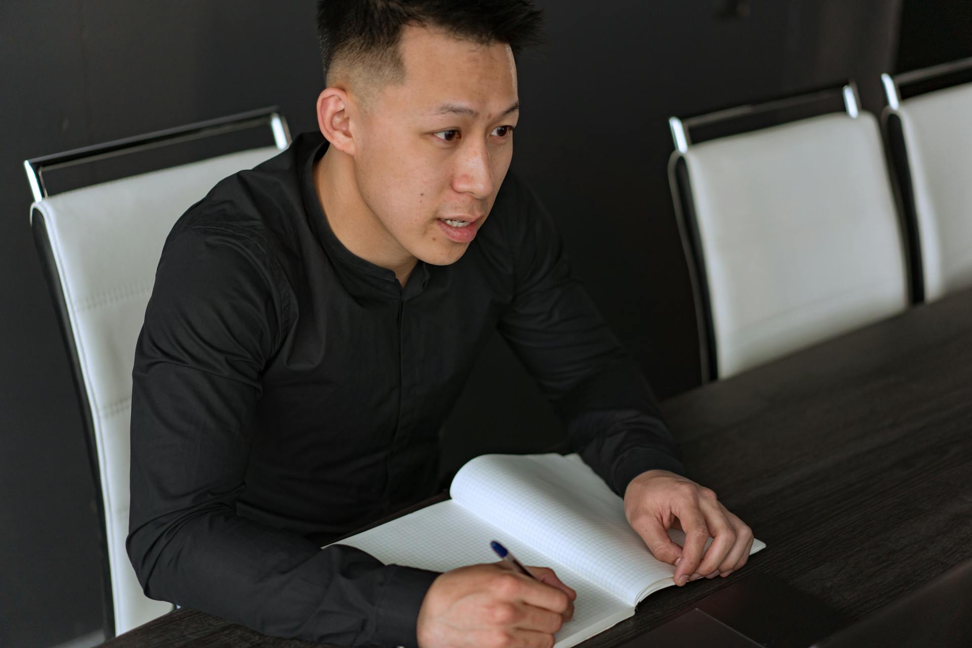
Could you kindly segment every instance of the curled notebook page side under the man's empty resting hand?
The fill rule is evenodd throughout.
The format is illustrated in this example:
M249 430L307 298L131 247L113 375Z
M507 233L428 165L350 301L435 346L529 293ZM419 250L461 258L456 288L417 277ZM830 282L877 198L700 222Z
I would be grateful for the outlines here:
M456 474L450 494L631 605L675 584L675 567L655 560L628 525L621 497L577 455L483 455Z

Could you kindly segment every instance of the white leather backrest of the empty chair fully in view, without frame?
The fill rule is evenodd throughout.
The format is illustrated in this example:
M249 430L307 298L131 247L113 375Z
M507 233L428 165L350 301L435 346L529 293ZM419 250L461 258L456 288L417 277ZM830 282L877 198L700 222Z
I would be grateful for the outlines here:
M719 377L907 307L877 121L832 114L684 153Z

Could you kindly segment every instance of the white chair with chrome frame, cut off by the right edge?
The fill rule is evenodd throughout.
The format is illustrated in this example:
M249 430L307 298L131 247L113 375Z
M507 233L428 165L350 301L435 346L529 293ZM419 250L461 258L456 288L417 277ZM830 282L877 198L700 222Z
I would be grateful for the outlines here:
M916 301L972 287L972 83L913 92L961 71L972 71L972 58L882 75L888 145L917 242Z

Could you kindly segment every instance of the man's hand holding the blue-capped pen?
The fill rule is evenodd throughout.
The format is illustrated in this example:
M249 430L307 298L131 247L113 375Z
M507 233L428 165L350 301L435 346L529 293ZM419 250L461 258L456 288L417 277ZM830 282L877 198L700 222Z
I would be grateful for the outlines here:
M546 567L539 580L506 563L473 564L441 574L419 609L421 648L551 648L553 633L573 617L577 594Z

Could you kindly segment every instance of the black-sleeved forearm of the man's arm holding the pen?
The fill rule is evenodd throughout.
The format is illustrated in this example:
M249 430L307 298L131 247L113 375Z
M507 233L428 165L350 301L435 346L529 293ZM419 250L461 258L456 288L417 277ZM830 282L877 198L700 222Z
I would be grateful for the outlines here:
M437 576L352 547L322 550L228 510L146 523L127 548L150 597L266 634L344 645L414 645L415 619Z

